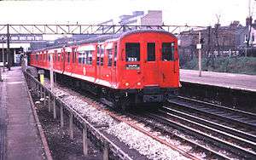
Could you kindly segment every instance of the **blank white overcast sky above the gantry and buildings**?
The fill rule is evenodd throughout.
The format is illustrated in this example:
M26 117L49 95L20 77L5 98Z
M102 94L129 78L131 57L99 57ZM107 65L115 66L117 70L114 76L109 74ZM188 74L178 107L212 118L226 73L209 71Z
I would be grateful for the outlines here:
M253 19L256 3L251 0ZM1 1L0 24L96 24L135 10L162 10L166 25L209 26L217 21L245 25L249 0Z

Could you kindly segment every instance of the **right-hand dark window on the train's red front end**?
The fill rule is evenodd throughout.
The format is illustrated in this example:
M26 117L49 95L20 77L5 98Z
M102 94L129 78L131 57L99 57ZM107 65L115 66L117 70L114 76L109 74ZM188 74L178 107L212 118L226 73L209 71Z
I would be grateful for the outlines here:
M174 43L162 43L162 60L173 60Z

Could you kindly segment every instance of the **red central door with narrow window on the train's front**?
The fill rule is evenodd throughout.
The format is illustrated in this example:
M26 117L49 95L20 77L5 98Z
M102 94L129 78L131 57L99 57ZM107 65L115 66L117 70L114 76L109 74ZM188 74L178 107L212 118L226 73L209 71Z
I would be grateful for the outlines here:
M145 53L143 57L143 75L144 75L144 85L148 86L158 86L159 80L159 65L158 57L156 56L158 52L157 44L154 41L144 42L142 53Z

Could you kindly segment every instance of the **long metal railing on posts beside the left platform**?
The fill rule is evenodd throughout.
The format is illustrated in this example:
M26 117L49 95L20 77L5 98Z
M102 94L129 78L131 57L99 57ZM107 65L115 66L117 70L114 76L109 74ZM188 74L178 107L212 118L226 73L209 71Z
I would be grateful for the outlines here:
M101 148L103 151L103 159L108 160L109 153L113 154L114 157L118 157L119 159L127 159L131 160L125 151L122 151L119 146L116 146L111 140L108 139L104 134L102 134L99 129L96 129L91 123L89 123L84 117L82 117L78 111L75 111L72 106L65 103L59 97L57 97L50 89L46 88L42 85L37 78L33 77L32 74L23 71L24 77L26 78L26 83L28 89L31 90L34 94L38 96L38 98L44 98L44 106L48 103L49 112L53 111L53 117L56 119L56 107L59 107L60 118L61 118L61 128L64 127L64 110L65 113L68 114L69 117L69 132L70 138L73 140L73 120L76 123L79 123L79 126L82 128L82 137L83 137L83 152L84 156L88 155L88 133L96 137L101 144ZM48 95L48 102L47 97ZM52 105L51 105L52 104ZM51 108L53 106L53 109Z

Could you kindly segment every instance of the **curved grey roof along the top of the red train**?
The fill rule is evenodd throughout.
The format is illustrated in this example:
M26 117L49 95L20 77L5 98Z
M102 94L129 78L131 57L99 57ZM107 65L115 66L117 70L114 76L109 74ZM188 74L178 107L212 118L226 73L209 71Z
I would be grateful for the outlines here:
M135 33L143 33L143 32L165 33L165 34L168 34L172 37L175 37L171 32L164 31L164 30L148 30L148 29L147 30L134 30L134 31L126 31L126 32L123 32L123 33L112 34L112 35L102 35L102 36L98 36L98 37L90 37L88 39L81 40L81 41L78 41L78 42L59 44L59 45L55 45L55 46L44 48L44 49L34 50L33 52L41 52L41 51L44 51L46 49L60 49L60 48L64 48L64 47L70 47L70 46L75 46L75 45L79 45L79 44L86 44L86 43L102 43L102 42L105 42L107 40L116 39L116 38L122 39L125 36L135 34Z

